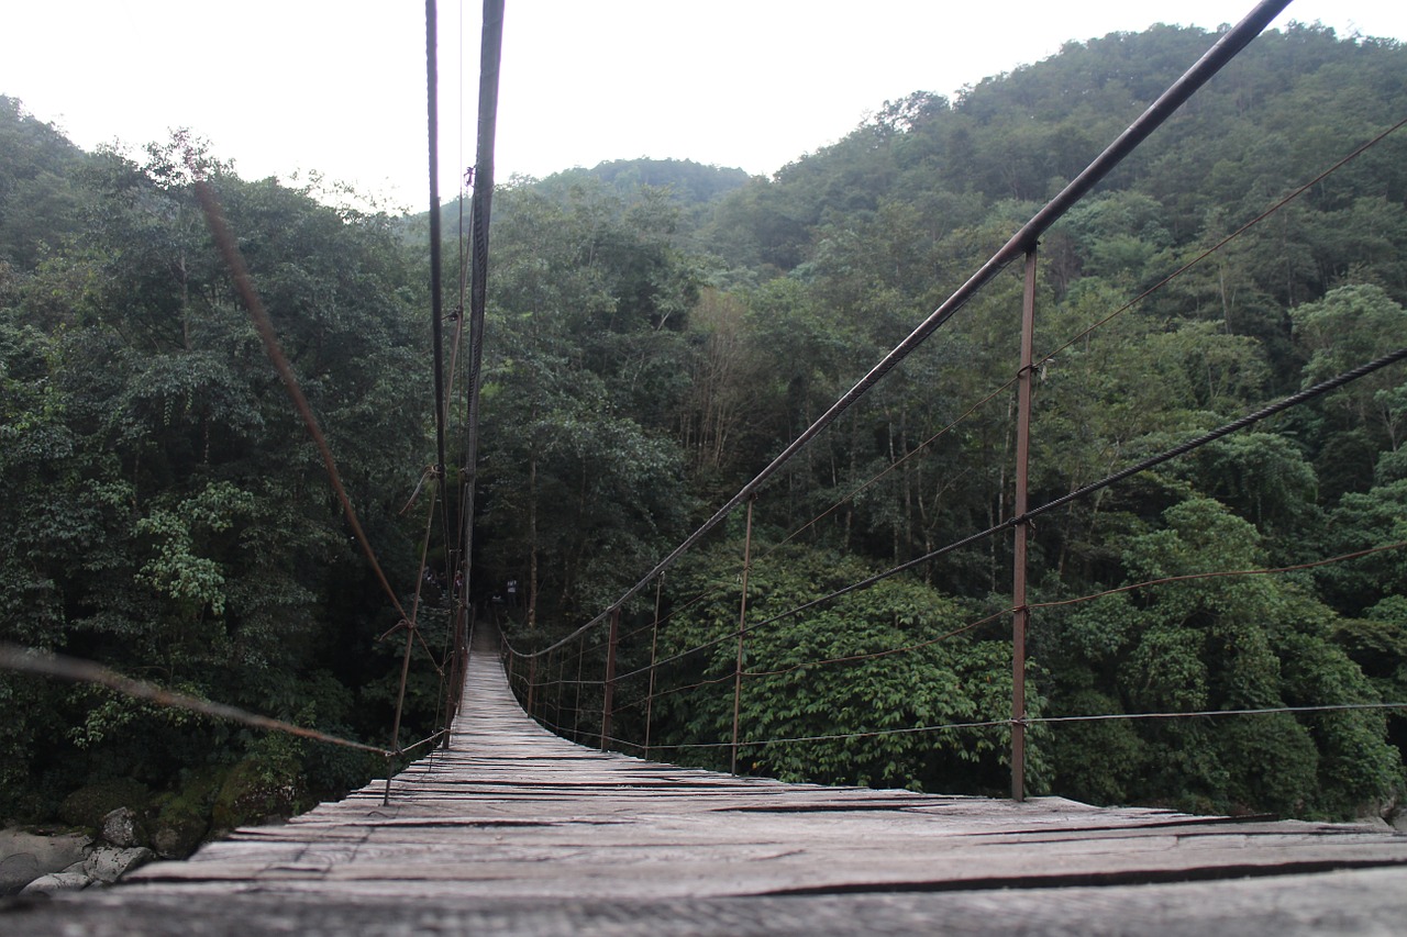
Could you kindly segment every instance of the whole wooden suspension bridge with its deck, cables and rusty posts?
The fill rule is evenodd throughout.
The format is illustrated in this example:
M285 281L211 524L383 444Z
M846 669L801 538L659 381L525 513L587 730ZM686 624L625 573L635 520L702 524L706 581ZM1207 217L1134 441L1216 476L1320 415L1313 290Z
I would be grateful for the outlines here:
M609 609L554 644L526 651L507 649L507 673L497 636L481 626L467 654L467 664L463 664L464 654L460 649L446 658L443 671L447 671L454 691L450 694L452 705L446 709L453 712L453 703L459 705L443 733L443 748L426 748L429 754L405 771L377 779L340 802L324 803L287 824L239 829L227 840L207 844L190 861L145 867L117 888L10 902L0 906L0 933L35 937L70 933L317 934L469 930L540 934L848 934L933 933L941 929L951 933L1000 930L1157 934L1206 933L1233 927L1242 934L1399 933L1401 922L1407 919L1407 836L1400 833L1384 827L1285 822L1266 816L1192 816L1165 809L1092 808L1061 798L1026 796L1026 729L1033 723L1058 720L1031 716L1026 709L1024 627L1030 612L1040 608L1027 601L1024 584L1026 537L1031 522L1043 514L1407 357L1407 349L1390 352L1106 478L1085 484L1068 495L1037 505L1027 501L1026 445L1031 376L1040 367L1040 360L1051 357L1047 355L1038 360L1031 348L1031 287L1041 234L1069 205L1089 193L1202 82L1254 38L1283 6L1286 4L1261 3L1252 15L1218 41L1183 80L1150 107L1144 117L1033 217L908 339ZM487 124L491 128L492 121ZM1394 129L1397 128L1387 132ZM1372 144L1365 146L1368 145ZM467 381L470 394L477 393L483 338L485 263L481 255L487 252L491 136L484 152L488 158L485 160L481 155L481 186L474 193L476 200L483 201L474 210L474 224L481 231L474 238L476 295L470 304L474 346ZM1356 152L1361 151L1355 151L1349 159ZM1307 183L1306 189L1313 184L1314 181ZM217 224L218 207L211 205L207 211L217 242L227 253L246 304L259 322L259 301L246 283L248 276L241 272L234 239ZM432 225L438 225L438 211L432 210L431 218ZM438 231L432 243L432 256L438 259ZM1013 625L1012 716L999 723L960 727L1000 725L1009 730L1012 799L784 784L608 751L608 746L615 746L649 754L650 705L663 692L681 691L661 691L654 684L660 664L654 656L654 637L660 626L658 598L649 667L618 677L615 651L626 604L651 585L657 589L666 570L684 552L744 504L749 506L750 535L750 508L768 478L954 315L983 284L1017 259L1024 259L1027 270L1021 360L1016 377L993 391L1002 393L1014 385L1017 395L1016 478L1009 515L988 530L937 547L893 570L846 585L834 594L761 622L747 619L747 574L751 560L744 552L740 573L743 605L739 609L737 630L725 636L729 642L736 637L737 665L733 673L712 681L732 681L734 685L732 740L716 743L715 747L730 747L736 768L740 746L737 694L744 675L758 675L744 671L744 637L795 613L931 561L946 552L1010 533L1014 582L1012 606L1003 615L1010 615ZM433 333L439 393L445 381L439 374L438 286L435 294ZM277 363L280 356L274 353L272 328L267 333L270 355ZM286 374L286 383L298 402L297 383L291 373ZM435 409L442 421L442 400L436 400ZM469 404L466 409L477 411L477 402ZM305 402L300 404L300 411L321 446ZM443 433L440 423L439 463L433 473L440 481L445 478L446 461ZM476 436L470 433L470 439ZM360 536L360 526L336 480L331 453L325 446L322 450L349 523ZM461 557L471 553L473 445L466 464L470 466L464 473L470 483L466 484L461 504L467 505L469 521L459 525L464 528L464 540L459 549ZM433 523L433 512L432 505L428 529ZM364 537L360 539L376 566L370 546ZM1403 544L1375 549L1400 546ZM1361 553L1324 561L1342 561L1354 556ZM1283 571L1286 570L1223 570L1206 575ZM446 581L450 580L446 573ZM383 585L405 619L401 625L407 632L408 665L414 643L419 640L414 611L418 604L412 605L411 613L405 613L384 577ZM459 584L456 592L456 609L463 613L467 609L466 592ZM1078 601L1086 598L1097 597ZM965 625L964 630L983 622ZM461 637L461 625L463 620L456 622L456 640ZM606 625L609 637L595 642L592 649L604 651L606 657L599 667L592 664L587 670L590 680L582 680L582 657L588 653L590 643L587 637L598 626ZM692 649L698 650L702 649ZM913 649L886 649L870 656L909 650ZM567 677L571 653L575 654L574 680ZM18 661L18 657L14 660ZM803 665L854 660L855 657L836 657ZM35 665L34 661L21 663L25 667ZM619 680L629 677L649 681L649 688L630 703L639 708L643 701L644 705L643 744L612 734L612 716L625 709L615 706L615 688ZM122 692L145 695L158 702L165 699L149 688L104 674L69 674L69 678L106 682ZM598 712L588 713L590 725L578 732L575 723L582 712L580 692L584 684L594 684L602 692L602 703ZM461 695L457 692L460 685ZM518 696L514 695L515 687L519 688ZM568 687L574 694L570 708L564 703ZM550 701L549 692L553 694ZM231 716L229 712L217 712L210 706L200 709L196 705L198 701L186 702L208 715ZM1324 702L1244 712L1327 712L1401 705ZM592 743L598 737L599 747L587 747L549 732L547 726L567 729L563 718L567 709L571 712L570 734ZM1235 713L1120 713L1119 718L1218 715ZM633 718L640 722L639 712ZM1065 716L1096 718L1112 715ZM269 725L272 720L246 722L263 729L293 729ZM953 727L930 726L926 730ZM442 740L438 733L416 746L401 747L400 715L391 736L395 750L384 753L388 756ZM741 744L749 741L744 739ZM675 746L674 750L680 747ZM658 754L670 748L656 743L653 751Z

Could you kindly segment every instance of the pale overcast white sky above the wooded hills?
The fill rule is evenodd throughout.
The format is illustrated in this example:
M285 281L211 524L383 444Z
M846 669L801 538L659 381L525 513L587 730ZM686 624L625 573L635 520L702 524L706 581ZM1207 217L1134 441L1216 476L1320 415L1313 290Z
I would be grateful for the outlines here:
M1214 28L1254 6L507 0L497 176L637 156L771 174L886 98L951 94L1068 39ZM447 201L474 159L481 4L439 8ZM1403 0L1296 0L1276 23L1292 18L1407 38ZM0 0L0 93L89 149L189 127L245 179L318 170L395 205L428 198L419 1Z

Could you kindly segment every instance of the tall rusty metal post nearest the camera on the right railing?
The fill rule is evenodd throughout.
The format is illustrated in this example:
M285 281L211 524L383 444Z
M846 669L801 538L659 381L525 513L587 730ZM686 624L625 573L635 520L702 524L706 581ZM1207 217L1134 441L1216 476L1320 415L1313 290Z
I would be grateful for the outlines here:
M1036 343L1036 248L1026 252L1021 297L1021 370L1016 377L1016 526L1012 529L1012 799L1026 799L1026 547L1030 537L1031 360Z

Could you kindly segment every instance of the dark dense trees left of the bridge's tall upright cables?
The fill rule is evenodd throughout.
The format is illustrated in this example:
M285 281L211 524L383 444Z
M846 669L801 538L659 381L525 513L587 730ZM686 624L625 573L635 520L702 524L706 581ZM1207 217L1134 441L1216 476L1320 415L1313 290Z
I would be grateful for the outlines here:
M235 300L187 165L211 176L348 488L414 584L394 512L424 461L428 390L388 225L241 181L184 135L142 165L75 155L4 103L0 165L17 177L0 217L24 248L0 262L0 637L384 737L397 661L371 639L395 619ZM25 174L34 163L66 174ZM56 193L66 215L32 211ZM280 812L369 771L107 691L7 675L0 695L6 815L114 775L159 792L239 758L279 775L266 786L288 795L260 809Z

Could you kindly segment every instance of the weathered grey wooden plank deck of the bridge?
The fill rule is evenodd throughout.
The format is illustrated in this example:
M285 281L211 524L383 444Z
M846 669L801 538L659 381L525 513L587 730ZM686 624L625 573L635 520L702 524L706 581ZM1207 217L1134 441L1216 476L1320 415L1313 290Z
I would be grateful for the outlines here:
M1407 933L1407 836L736 778L532 722L491 650L450 751L0 933Z

